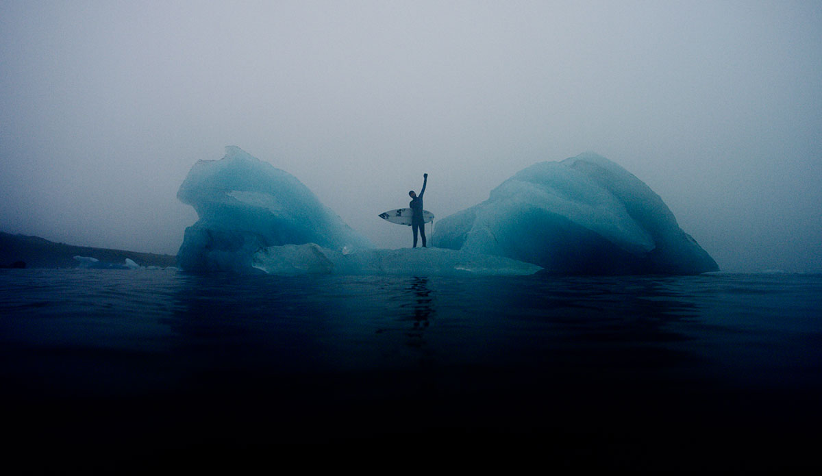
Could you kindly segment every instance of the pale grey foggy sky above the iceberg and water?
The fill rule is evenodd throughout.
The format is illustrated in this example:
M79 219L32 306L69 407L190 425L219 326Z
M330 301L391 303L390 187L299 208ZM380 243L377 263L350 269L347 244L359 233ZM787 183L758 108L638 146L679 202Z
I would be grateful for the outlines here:
M176 253L224 146L379 247L594 151L723 270L822 271L822 2L0 0L0 230Z

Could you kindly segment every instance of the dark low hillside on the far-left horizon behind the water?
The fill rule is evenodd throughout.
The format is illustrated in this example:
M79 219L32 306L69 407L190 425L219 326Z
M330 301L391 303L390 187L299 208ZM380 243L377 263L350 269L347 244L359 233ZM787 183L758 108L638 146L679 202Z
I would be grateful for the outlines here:
M131 258L140 266L176 266L177 256L129 252L108 248L77 247L45 238L0 232L0 268L76 268L74 256L89 256L104 263L123 264Z

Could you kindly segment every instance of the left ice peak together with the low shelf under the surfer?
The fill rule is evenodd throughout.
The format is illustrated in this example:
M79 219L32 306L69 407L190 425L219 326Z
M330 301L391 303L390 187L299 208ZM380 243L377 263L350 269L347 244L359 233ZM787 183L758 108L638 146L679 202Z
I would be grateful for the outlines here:
M279 275L530 275L541 268L444 249L375 250L297 178L227 147L194 164L178 198L200 219L178 252L184 270Z

